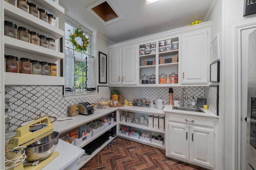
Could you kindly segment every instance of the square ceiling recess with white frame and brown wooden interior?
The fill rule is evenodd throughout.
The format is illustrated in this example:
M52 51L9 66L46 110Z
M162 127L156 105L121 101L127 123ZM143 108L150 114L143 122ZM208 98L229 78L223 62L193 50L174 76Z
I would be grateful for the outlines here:
M86 8L96 18L98 18L104 25L119 21L122 16L118 13L116 8L109 0L100 0Z

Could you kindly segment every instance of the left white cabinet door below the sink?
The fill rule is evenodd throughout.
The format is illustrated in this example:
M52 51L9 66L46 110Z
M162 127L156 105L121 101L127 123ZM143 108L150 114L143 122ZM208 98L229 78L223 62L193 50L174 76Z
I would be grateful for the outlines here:
M189 125L168 122L166 154L189 161Z

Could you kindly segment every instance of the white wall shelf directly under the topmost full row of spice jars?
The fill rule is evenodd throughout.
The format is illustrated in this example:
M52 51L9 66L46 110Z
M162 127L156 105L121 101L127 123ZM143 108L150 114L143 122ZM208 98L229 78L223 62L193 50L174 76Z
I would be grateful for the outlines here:
M43 0L42 0L43 1ZM28 12L21 10L20 8L13 6L12 4L4 1L4 16L19 21L24 25L17 25L24 27L25 25L38 29L48 35L56 38L64 37L65 32L57 27L54 27L50 23L47 23L35 16L32 16Z

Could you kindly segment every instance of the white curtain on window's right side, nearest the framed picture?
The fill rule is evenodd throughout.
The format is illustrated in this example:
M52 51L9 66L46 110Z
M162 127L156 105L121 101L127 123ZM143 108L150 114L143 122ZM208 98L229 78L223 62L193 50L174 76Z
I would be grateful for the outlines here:
M94 81L94 57L88 56L87 60L87 87L96 88Z

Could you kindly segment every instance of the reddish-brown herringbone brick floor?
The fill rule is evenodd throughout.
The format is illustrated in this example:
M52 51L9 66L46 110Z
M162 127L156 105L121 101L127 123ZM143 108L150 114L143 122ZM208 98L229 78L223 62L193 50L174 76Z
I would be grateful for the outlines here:
M165 150L116 137L80 170L205 170L165 156Z

